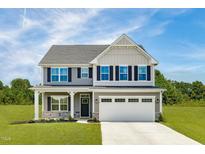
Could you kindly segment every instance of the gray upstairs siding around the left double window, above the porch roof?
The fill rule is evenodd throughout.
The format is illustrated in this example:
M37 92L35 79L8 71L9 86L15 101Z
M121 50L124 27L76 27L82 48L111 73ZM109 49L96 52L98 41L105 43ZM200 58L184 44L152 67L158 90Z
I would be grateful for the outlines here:
M47 68L43 68L43 84L44 85L92 85L93 79L82 79L77 77L77 67L72 67L72 80L71 82L47 82Z

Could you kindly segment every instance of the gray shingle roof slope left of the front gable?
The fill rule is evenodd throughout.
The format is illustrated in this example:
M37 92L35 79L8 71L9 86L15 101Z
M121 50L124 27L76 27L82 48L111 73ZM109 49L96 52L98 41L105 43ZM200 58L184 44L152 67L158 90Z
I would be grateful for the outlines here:
M39 65L89 64L109 45L53 45Z

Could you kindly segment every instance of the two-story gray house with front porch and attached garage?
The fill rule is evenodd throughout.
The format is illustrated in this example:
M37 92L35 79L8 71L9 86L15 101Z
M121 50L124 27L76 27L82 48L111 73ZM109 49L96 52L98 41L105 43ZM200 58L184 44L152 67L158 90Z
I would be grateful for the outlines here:
M123 34L110 45L53 45L40 61L42 83L35 91L35 120L99 118L155 121L163 89L155 87L158 62Z

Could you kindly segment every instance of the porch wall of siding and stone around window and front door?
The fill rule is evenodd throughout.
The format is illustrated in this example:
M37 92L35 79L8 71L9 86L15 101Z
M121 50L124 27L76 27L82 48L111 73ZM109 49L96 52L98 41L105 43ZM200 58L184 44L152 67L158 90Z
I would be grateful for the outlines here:
M90 94L90 116L92 116L92 93L76 93L74 95L74 117L75 118L80 118L80 111L81 111L81 108L80 108L80 94ZM58 111L48 111L48 108L47 108L47 98L48 96L51 96L51 95L67 95L69 96L68 93L45 93L44 94L44 111L43 111L43 114L42 114L42 117L43 118L65 118L65 117L68 117L68 115L70 114L70 112L58 112Z

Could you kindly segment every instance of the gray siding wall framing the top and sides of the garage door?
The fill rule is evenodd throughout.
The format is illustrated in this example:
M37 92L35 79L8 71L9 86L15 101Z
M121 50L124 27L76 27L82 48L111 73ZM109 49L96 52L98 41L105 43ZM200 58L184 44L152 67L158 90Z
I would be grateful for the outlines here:
M155 115L156 119L158 118L160 112L160 93L106 93L106 92L95 92L94 99L95 99L95 109L94 113L95 116L98 117L99 115L99 96L155 96Z

